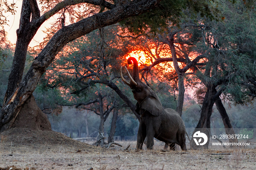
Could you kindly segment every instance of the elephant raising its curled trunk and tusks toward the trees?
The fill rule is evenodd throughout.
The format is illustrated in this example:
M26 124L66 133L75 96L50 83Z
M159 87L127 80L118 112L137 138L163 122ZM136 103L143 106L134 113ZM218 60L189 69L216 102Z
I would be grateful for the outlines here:
M165 149L175 150L175 143L180 145L182 150L186 148L185 124L180 115L173 109L164 109L159 97L148 85L139 78L138 62L134 57L128 58L128 64L133 63L132 76L125 67L130 82L123 77L122 67L121 78L125 84L130 86L135 100L137 100L135 111L140 115L140 124L137 136L137 150L141 150L146 139L147 149L153 149L154 137L165 142Z

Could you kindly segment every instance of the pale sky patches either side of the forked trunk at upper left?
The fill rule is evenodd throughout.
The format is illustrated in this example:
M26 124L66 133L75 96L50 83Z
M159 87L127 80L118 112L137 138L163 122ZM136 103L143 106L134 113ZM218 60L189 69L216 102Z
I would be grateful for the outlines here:
M10 1L10 0L9 0ZM12 3L12 1L11 1ZM6 13L7 22L8 25L4 26L4 30L7 32L7 39L10 40L11 43L16 44L17 35L16 30L19 28L19 19L20 19L20 11L22 6L22 0L14 0L14 3L16 3L16 13L15 15L11 15L11 13ZM39 9L40 9L39 5ZM37 34L35 34L34 38L31 40L29 46L34 47L35 45L38 45L39 42L42 42L44 39L44 36L46 35L43 31L46 30L47 27L50 26L50 23L53 22L53 20L47 20L37 31Z

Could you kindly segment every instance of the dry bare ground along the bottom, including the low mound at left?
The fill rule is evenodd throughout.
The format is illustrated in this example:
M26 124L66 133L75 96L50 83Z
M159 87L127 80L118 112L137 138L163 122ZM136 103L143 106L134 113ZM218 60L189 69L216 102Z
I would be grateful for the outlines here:
M0 133L0 169L255 169L256 149L128 151L106 149L59 132L13 128Z

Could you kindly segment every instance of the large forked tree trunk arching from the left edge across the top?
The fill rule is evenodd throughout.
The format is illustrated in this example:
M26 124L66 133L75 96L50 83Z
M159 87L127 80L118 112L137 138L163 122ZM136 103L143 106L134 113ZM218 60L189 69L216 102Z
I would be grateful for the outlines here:
M71 42L72 40L88 34L98 28L109 26L131 16L140 15L157 6L157 0L131 1L117 6L109 4L106 1L101 3L91 1L91 3L95 3L95 5L103 5L111 10L97 13L74 24L64 26L57 31L41 53L39 53L35 58L26 76L20 82L24 66L22 64L18 69L15 69L15 67L16 64L19 65L19 63L25 63L27 47L38 28L45 22L45 20L60 11L62 8L84 2L85 1L83 0L64 0L44 15L40 16L40 11L35 0L23 0L20 27L16 31L18 35L16 44L20 44L21 46L17 46L17 51L15 51L17 56L19 53L21 56L15 57L13 61L13 69L10 73L11 77L9 78L10 82L8 83L4 104L0 112L0 132L12 127L20 109L34 92L42 74L50 63L52 63L57 53L68 42ZM29 38L27 39L26 36L29 36ZM20 50L24 51L22 52Z

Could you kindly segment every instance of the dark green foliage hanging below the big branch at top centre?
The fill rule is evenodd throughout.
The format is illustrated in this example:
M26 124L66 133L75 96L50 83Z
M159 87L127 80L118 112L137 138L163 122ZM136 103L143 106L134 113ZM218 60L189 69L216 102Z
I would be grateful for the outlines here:
M144 34L145 32L162 32L168 26L179 26L182 20L195 19L197 14L219 19L219 10L214 1L207 0L161 0L158 7L140 16L121 22L130 32ZM187 12L189 11L189 12Z

